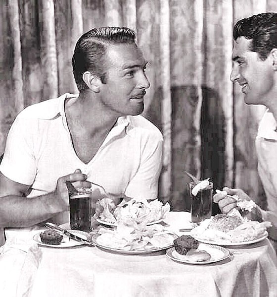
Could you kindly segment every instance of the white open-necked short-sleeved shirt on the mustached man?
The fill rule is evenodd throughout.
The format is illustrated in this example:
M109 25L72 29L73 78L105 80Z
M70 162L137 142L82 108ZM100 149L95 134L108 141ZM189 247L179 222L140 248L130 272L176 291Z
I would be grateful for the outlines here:
M14 120L1 173L32 185L28 197L54 191L57 179L81 169L88 180L114 194L157 198L163 137L142 116L120 117L101 147L85 164L75 153L64 102L78 95L64 94L25 108Z

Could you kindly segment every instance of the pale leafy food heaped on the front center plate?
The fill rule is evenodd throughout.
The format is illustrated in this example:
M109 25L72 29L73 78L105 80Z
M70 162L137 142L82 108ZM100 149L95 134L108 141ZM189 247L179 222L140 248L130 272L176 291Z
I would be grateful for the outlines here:
M99 245L122 250L149 250L173 245L176 236L160 224L146 226L119 224L115 229L100 228L96 241Z

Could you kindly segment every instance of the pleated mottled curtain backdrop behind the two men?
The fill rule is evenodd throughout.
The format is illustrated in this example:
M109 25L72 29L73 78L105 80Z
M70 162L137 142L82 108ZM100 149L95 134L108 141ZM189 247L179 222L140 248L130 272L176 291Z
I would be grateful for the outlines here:
M71 57L92 27L127 26L149 61L144 116L163 132L159 197L189 209L189 178L241 187L263 203L254 139L263 107L230 81L232 27L276 0L0 1L0 153L27 105L75 93ZM20 149L20 148L18 148Z

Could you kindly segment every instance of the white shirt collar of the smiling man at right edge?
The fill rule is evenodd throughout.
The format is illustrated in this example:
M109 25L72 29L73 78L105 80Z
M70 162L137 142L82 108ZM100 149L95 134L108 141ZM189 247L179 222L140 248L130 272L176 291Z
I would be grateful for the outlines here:
M257 138L277 140L277 122L269 109L260 121Z

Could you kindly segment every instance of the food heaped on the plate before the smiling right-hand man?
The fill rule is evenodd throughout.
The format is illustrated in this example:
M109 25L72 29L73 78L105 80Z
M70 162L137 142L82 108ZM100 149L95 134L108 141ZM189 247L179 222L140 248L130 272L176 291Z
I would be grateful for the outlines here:
M239 212L217 215L203 221L191 231L191 236L214 242L245 242L260 238L266 234L270 222L249 221Z

